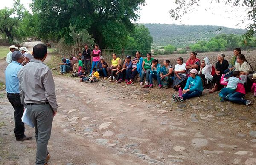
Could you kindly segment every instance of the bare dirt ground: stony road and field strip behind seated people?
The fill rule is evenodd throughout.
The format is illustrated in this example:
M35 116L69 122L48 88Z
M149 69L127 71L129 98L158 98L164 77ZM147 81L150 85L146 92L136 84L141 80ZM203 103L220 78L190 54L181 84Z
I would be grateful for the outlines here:
M248 59L255 61L251 56ZM178 55L160 57L175 64ZM6 66L5 61L0 65ZM103 79L81 83L67 75L54 80L59 109L49 140L49 165L256 164L255 103L221 103L218 92L208 90L201 97L174 103L172 89ZM246 98L255 102L252 94ZM25 128L32 140L15 141L13 108L6 95L0 98L2 164L34 164L34 130Z

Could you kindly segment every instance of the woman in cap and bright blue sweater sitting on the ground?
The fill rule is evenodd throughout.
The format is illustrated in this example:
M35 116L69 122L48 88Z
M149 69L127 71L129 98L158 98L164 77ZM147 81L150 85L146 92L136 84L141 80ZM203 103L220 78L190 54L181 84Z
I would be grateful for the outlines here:
M190 99L192 97L198 97L202 95L203 92L203 82L201 77L198 75L198 71L196 69L191 69L190 77L187 80L186 86L183 89L182 96L172 95L172 98L175 102L184 102L186 99Z

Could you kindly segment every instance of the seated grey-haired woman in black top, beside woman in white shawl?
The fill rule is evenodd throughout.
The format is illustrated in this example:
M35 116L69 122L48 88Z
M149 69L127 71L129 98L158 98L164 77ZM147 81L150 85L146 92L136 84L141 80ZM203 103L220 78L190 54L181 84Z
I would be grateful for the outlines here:
M221 90L224 87L224 85L220 84L221 76L224 73L224 71L228 68L228 62L224 59L224 57L224 54L217 55L218 62L216 63L215 74L213 75L212 79L212 83L214 84L214 86L210 93L215 92L217 90Z

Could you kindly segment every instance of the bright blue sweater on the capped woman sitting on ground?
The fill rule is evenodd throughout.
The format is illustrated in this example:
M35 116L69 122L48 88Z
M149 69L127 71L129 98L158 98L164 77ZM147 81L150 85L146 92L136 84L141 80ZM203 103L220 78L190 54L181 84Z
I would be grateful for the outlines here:
M189 88L190 86L190 88ZM200 78L200 76L196 75L195 78L192 78L191 76L188 78L186 86L184 88L190 89L190 92L193 91L203 91L203 82Z

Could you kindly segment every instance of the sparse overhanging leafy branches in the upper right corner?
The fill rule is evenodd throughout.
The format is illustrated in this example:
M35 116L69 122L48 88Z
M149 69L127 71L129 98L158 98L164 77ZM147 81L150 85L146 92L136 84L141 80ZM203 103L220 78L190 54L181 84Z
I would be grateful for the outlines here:
M179 20L183 14L186 14L189 8L193 8L193 6L199 6L201 0L175 0L176 8L171 9L169 13L171 14L171 18L175 20ZM246 39L249 39L253 36L256 36L256 1L255 0L212 0L211 3L220 3L225 2L226 4L232 4L235 8L244 6L248 10L247 18L242 20L252 20L253 23L247 25L247 33L245 34Z

